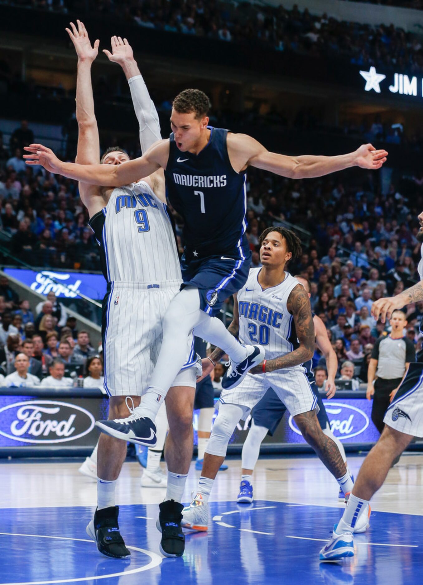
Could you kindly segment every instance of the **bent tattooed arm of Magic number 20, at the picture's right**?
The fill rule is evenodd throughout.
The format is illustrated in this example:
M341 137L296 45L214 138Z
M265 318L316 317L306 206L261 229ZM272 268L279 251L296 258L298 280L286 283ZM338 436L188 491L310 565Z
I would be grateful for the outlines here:
M284 356L267 360L265 371L283 370L287 367L299 366L312 358L314 354L314 322L311 315L311 306L307 292L301 284L297 284L291 291L287 308L294 318L295 331L300 346ZM261 374L263 363L250 370L250 374Z

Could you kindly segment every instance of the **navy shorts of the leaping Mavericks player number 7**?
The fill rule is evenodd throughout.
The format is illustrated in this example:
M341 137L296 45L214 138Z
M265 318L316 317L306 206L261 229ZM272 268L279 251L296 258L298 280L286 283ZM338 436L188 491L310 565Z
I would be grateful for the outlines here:
M191 255L191 254L190 254ZM187 261L182 257L181 269L184 287L192 286L200 292L200 308L208 315L219 314L226 298L231 297L246 283L251 264L251 252L243 252L244 260L239 259L239 251L225 256L207 256Z

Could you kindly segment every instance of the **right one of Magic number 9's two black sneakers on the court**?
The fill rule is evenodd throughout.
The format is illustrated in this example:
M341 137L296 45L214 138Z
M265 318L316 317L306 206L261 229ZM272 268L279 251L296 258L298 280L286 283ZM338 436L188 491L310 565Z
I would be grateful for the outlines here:
M185 535L182 531L183 504L166 500L159 504L156 526L161 532L160 552L164 556L182 556L185 550Z

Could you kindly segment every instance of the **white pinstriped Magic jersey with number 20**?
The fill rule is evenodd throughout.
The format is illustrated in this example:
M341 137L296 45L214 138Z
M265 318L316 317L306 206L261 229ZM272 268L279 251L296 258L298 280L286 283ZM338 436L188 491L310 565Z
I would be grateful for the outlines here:
M250 270L247 282L237 295L239 340L262 345L266 359L270 360L292 352L299 345L293 316L287 309L288 297L298 280L285 273L283 283L263 290L257 280L260 270Z

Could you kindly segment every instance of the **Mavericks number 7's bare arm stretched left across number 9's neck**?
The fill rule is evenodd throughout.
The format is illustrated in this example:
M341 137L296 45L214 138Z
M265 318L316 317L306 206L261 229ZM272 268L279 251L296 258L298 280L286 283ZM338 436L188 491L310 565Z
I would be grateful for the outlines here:
M64 163L53 150L43 144L25 146L26 164L41 164L50 173L60 174L70 179L104 187L122 187L148 177L160 167L166 168L169 156L169 141L161 140L154 144L142 157L124 164L75 164Z

